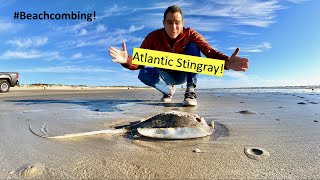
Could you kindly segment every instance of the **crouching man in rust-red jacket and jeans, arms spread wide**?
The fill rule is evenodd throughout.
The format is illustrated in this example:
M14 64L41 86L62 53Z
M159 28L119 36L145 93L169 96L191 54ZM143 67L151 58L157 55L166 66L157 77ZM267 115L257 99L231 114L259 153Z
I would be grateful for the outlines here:
M184 28L183 13L180 7L173 5L167 8L163 16L164 28L155 30L147 35L141 48L200 56L200 51L212 59L225 60L225 69L245 71L248 68L248 59L238 57L239 48L231 57L213 49L204 37L191 28ZM170 102L175 92L175 86L187 82L187 89L183 101L184 106L196 106L197 96L195 88L198 74L158 68L147 68L132 64L132 57L128 56L126 44L122 43L122 50L110 47L109 54L112 62L120 63L123 67L141 69L138 78L146 85L156 88L163 94L161 101Z

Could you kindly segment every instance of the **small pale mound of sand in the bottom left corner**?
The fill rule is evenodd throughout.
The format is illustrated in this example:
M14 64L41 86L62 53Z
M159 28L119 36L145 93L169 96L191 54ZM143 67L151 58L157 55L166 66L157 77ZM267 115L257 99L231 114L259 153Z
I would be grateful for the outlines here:
M28 163L16 171L11 171L8 179L30 179L40 177L46 168L43 164L40 163Z

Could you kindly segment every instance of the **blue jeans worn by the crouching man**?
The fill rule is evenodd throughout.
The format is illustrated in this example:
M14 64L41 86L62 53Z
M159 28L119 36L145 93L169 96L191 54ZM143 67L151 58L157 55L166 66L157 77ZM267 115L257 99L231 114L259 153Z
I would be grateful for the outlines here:
M200 56L200 49L194 43L189 43L186 46L185 54ZM187 87L196 87L197 77L197 73L183 71L167 72L157 68L143 68L138 76L144 84L154 87L166 95L170 93L168 85L179 85L187 82Z

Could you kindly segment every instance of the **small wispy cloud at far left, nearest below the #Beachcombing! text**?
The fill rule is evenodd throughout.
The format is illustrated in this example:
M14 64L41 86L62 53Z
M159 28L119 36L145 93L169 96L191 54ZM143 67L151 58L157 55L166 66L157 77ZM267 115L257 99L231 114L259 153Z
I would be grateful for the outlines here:
M17 48L30 48L44 46L48 42L48 37L29 37L8 40L6 44L10 44Z

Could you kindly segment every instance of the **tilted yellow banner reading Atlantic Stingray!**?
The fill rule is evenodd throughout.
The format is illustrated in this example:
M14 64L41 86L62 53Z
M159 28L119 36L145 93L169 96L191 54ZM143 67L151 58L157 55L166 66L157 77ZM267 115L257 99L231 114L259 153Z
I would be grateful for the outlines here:
M219 59L142 48L134 48L132 54L132 64L221 77L224 73L224 63L224 60Z

